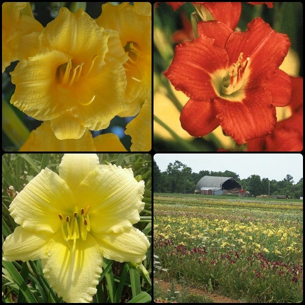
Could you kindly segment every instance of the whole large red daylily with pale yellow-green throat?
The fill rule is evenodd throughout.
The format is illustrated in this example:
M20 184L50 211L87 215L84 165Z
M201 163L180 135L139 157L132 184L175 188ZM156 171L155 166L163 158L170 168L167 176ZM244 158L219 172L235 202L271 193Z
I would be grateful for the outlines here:
M271 133L275 106L290 101L290 78L279 70L290 46L287 35L261 18L246 33L217 21L199 22L198 35L176 46L164 72L190 97L180 114L182 128L201 137L221 125L238 144Z

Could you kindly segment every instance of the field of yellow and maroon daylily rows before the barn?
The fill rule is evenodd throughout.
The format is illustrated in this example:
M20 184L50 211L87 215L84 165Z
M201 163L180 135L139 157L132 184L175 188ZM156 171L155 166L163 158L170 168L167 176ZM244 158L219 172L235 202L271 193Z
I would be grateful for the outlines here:
M302 204L156 194L154 276L242 302L301 301Z

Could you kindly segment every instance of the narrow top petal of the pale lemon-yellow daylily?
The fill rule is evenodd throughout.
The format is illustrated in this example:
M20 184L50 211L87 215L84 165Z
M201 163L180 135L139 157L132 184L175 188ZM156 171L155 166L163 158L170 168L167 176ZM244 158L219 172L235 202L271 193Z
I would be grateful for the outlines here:
M59 176L75 192L85 176L99 164L96 154L65 154L59 164Z

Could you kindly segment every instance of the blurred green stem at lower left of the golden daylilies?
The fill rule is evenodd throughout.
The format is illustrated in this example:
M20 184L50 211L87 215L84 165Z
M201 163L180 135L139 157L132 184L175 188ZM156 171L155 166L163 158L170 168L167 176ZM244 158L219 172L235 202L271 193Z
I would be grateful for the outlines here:
M20 147L29 136L25 125L4 100L2 100L2 129L17 147Z

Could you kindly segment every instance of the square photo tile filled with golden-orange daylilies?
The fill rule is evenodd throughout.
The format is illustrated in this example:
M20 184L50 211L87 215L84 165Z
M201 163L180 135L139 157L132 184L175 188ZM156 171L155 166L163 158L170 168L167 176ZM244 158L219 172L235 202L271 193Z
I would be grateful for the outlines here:
M6 2L2 49L4 150L150 150L150 3Z

